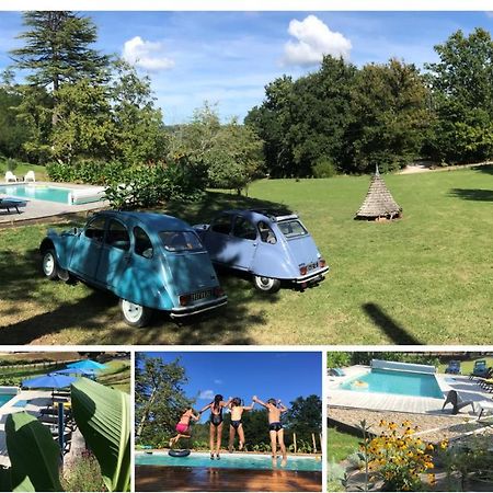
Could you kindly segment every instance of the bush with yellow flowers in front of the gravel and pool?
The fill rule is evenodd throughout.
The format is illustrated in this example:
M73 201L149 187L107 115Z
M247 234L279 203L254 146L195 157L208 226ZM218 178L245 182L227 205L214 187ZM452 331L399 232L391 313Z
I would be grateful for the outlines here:
M364 440L360 450L369 481L381 480L385 491L422 490L423 473L435 467L432 456L435 446L414 436L419 427L413 427L409 421L398 424L381 420L379 427L380 435L371 438L366 423L362 422ZM447 445L444 440L438 447L446 448ZM433 472L428 472L427 482L432 486L436 483Z

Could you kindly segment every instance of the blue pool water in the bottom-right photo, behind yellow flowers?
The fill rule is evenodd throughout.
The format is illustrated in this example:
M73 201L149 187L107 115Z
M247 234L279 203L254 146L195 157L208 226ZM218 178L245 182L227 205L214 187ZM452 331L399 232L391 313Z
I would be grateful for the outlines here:
M341 389L435 399L444 397L434 375L375 368L367 375L341 383Z

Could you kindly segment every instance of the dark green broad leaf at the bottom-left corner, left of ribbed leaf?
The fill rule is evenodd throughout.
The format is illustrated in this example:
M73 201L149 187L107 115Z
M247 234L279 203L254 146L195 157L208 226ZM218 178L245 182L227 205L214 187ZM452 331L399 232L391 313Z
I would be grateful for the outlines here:
M60 448L46 426L26 412L9 414L5 436L12 491L64 491L58 472Z

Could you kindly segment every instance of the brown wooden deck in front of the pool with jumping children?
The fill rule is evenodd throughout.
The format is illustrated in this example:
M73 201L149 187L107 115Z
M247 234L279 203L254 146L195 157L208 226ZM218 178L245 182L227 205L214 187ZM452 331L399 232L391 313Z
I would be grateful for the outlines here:
M319 471L136 466L139 491L322 491Z

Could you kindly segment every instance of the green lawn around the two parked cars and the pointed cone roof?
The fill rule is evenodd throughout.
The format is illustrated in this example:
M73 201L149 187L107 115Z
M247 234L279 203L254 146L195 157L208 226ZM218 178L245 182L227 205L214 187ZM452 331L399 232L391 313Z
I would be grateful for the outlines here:
M368 176L261 181L249 198L214 192L170 204L168 213L191 223L283 204L300 214L331 266L319 287L274 296L221 275L228 306L182 325L159 314L130 329L113 296L44 279L37 248L50 225L1 230L0 344L491 343L493 167L385 180L402 220L353 220Z

